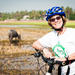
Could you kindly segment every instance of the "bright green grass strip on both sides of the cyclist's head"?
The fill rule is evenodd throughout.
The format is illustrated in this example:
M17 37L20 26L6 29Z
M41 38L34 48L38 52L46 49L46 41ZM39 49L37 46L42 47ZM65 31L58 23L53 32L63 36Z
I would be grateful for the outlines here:
M39 25L40 27L49 27L46 21L44 22L0 22L0 25ZM68 21L65 25L66 27L75 28L75 21Z

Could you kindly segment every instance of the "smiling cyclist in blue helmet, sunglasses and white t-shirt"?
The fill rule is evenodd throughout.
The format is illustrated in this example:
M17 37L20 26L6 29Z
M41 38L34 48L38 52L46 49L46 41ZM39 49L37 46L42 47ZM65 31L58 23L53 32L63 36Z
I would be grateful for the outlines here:
M61 7L48 9L45 16L53 31L35 41L33 48L43 51L47 58L52 56L49 50L52 48L55 60L68 61L67 65L61 66L61 75L75 75L75 29L64 27L66 15Z

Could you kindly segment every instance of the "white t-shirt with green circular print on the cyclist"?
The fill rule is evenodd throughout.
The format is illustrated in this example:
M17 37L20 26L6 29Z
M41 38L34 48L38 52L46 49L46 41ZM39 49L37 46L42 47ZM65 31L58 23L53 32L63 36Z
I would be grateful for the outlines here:
M56 31L52 31L38 41L43 47L51 47L55 56L65 57L75 52L75 29L67 28L62 35L58 35ZM75 66L73 67L75 71Z

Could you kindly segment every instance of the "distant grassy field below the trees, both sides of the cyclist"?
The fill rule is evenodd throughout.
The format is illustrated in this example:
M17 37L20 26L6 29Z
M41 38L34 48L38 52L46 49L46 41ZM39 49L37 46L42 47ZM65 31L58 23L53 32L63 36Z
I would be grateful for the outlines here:
M0 21L0 25L45 25L47 21ZM75 21L67 21L67 27L75 27Z

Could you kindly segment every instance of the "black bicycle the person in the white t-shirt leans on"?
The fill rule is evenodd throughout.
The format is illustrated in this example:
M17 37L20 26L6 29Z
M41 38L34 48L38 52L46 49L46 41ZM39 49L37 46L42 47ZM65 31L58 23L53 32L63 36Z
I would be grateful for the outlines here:
M35 50L36 50L36 53L34 53L33 55L34 55L34 57L37 58L38 66L40 64L39 57L42 57L43 61L46 63L46 64L42 65L41 67L39 66L40 68L38 69L38 74L37 75L53 75L53 72L52 71L54 69L54 65L55 64L58 64L59 65L59 68L60 68L60 66L66 65L66 63L64 63L62 61L55 61L55 58L54 57L45 58L43 56L43 54L39 50L37 50L37 49L35 49ZM42 71L42 68L43 67L46 67L47 64L48 64L49 67L46 68L46 72ZM42 73L40 73L40 71Z

